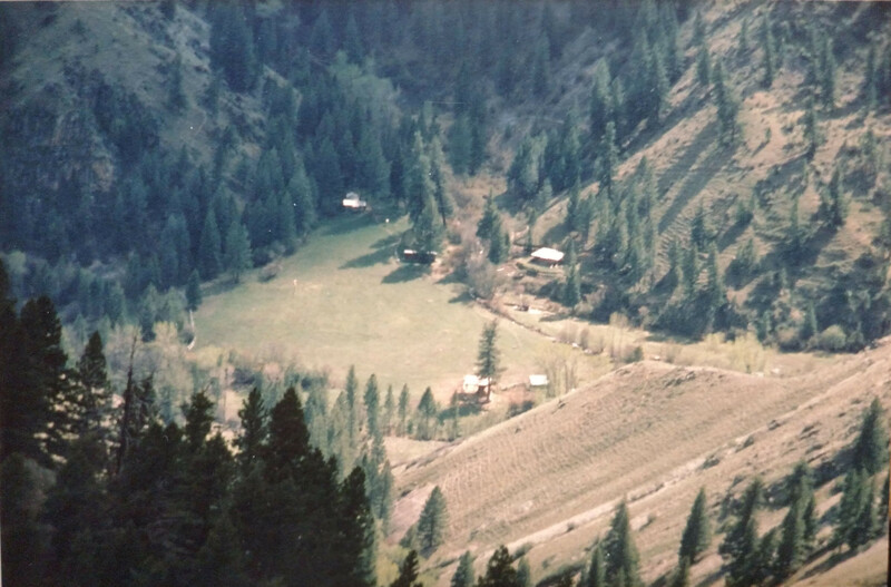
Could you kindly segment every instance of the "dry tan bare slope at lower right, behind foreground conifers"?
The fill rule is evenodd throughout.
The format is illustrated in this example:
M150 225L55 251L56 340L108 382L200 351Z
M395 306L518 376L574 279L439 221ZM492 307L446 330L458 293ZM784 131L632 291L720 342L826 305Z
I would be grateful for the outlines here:
M891 339L794 378L655 361L627 365L401 466L393 537L417 520L438 485L450 518L447 544L430 560L442 567L440 584L448 584L460 552L477 555L480 571L499 544L529 548L533 575L540 578L586 560L586 548L605 532L615 505L627 499L644 578L654 580L676 562L699 487L706 488L717 527L722 501L738 497L751 478L762 476L768 495L775 495L783 477L804 459L816 471L824 513L838 500L832 488L844 467L845 447L874 397L891 410ZM762 532L782 515L766 508ZM824 524L823 539L829 531ZM721 538L693 568L696 584L723 583L715 554ZM881 581L882 547L869 552L866 564L852 565L859 569L854 573Z

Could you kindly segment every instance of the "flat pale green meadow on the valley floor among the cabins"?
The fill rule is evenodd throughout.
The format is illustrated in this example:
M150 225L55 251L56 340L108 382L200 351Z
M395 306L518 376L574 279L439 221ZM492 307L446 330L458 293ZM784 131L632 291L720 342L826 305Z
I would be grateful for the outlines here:
M361 379L375 373L384 389L407 383L418 397L431 385L447 400L473 372L480 333L493 316L469 302L461 284L400 264L394 251L404 228L404 221L375 224L368 215L325 223L283 261L276 278L261 283L251 272L239 285L206 294L195 315L196 352L213 346L326 369L335 384L354 364ZM552 344L501 321L502 383L541 372ZM580 374L603 369L594 358L581 361Z

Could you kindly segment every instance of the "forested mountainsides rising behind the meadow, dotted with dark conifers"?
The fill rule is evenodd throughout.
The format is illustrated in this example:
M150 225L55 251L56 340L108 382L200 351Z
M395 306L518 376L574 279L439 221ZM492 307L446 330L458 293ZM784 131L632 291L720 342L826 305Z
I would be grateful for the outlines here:
M529 293L858 349L891 325L887 10L7 6L13 285L68 319L169 320L185 302L158 292L287 254L349 189L408 213L410 246L448 233L462 274L478 245L453 218L503 178L489 261L575 250Z

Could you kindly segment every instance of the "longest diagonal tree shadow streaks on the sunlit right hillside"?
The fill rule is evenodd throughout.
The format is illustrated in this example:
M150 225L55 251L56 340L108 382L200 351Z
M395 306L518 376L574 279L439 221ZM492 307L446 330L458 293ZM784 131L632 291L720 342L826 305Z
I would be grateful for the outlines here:
M727 157L732 154L731 150L717 145L716 127L717 123L714 120L708 123L693 140L686 153L662 174L659 178L660 193L665 193L670 188L675 177L682 177L683 184L668 209L659 218L658 231L660 234L675 222L687 204L708 185L708 182L724 167ZM699 155L709 146L713 147L713 150L704 162L698 164L695 169L692 169Z

